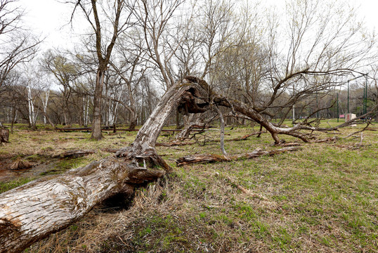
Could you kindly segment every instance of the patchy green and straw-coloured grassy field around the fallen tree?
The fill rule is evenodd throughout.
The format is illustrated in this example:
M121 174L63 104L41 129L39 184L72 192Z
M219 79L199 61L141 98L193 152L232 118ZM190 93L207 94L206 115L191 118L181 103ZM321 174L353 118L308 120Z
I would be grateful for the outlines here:
M317 133L318 138L339 137L332 143L302 143L280 136L301 143L301 150L292 153L185 167L176 167L176 158L220 154L219 143L202 145L204 137L199 136L195 145L159 147L174 172L139 188L129 209L93 209L27 252L378 252L378 131L372 131L378 128L373 125L363 132L362 145L360 134L344 138L362 127ZM226 138L258 130L228 128ZM95 142L87 133L19 127L11 143L0 146L0 157L46 162L46 157L67 149L121 148L135 136L105 134L105 140ZM161 136L159 141L171 138ZM219 131L209 131L206 138L219 139ZM231 155L256 148L273 150L272 144L271 136L262 134L226 142L226 150ZM107 155L111 154L98 150L59 160L45 174ZM0 183L0 190L28 180Z

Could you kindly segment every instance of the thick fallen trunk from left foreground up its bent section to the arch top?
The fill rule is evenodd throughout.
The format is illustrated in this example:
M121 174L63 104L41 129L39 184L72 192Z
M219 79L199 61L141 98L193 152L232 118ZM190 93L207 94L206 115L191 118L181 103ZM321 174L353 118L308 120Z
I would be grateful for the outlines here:
M155 143L164 122L183 103L186 91L197 84L184 79L162 97L127 148L60 176L32 181L0 195L0 252L21 252L33 242L62 230L95 205L118 193L133 195L140 183L153 181L171 170L157 155Z

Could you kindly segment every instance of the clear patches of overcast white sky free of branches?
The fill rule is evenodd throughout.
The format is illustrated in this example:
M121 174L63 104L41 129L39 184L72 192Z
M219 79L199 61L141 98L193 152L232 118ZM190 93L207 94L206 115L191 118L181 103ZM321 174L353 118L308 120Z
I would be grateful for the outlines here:
M253 1L253 0L252 0ZM332 0L329 0L332 1ZM349 0L354 6L360 6L360 17L371 29L378 27L378 0ZM61 46L63 48L77 41L77 35L72 33L70 20L72 6L60 4L56 0L20 0L21 6L26 9L25 22L37 34L46 37L46 46ZM285 0L264 0L272 5L282 8ZM82 21L82 22L85 22ZM75 24L77 25L76 22ZM66 25L66 26L65 26ZM377 29L376 29L377 30ZM76 37L76 38L75 38Z

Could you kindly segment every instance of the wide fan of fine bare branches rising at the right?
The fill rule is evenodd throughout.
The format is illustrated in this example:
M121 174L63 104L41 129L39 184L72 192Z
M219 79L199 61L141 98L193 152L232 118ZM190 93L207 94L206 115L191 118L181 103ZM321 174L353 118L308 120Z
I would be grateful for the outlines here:
M330 92L362 72L376 57L375 40L356 22L355 14L342 1L288 1L287 22L271 20L268 27L269 72L261 87L269 93L254 110L288 112L296 101ZM285 25L283 30L275 29L279 23ZM278 103L286 94L290 98Z

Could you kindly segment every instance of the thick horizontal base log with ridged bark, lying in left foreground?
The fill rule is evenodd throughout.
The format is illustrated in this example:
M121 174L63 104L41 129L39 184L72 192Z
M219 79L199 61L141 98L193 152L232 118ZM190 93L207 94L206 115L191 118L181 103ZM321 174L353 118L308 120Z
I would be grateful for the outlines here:
M163 169L138 167L107 157L53 179L32 181L0 197L0 252L22 249L80 219L95 205L133 185L163 176Z

